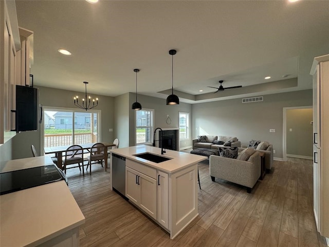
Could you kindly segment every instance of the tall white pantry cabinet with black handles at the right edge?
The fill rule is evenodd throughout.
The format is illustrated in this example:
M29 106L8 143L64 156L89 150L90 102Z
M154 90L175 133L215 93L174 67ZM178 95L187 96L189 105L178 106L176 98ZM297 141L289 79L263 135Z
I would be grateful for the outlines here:
M313 75L314 215L319 233L329 237L329 55L317 57Z

